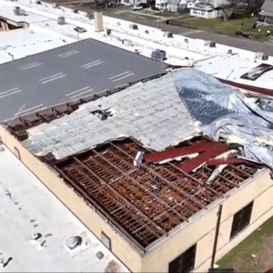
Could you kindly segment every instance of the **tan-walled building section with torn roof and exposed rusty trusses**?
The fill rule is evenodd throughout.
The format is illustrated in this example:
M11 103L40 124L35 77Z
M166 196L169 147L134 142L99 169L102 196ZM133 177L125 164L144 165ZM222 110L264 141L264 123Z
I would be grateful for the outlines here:
M132 272L205 272L273 215L271 100L191 69L95 99L1 140Z

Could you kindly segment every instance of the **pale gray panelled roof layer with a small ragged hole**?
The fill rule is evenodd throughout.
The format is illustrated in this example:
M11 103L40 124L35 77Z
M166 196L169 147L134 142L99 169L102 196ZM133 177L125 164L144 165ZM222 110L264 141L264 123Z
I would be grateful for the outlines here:
M109 109L113 116L101 120L90 113L95 109ZM52 153L63 159L111 139L134 137L147 148L160 151L199 134L195 125L169 73L33 127L23 145L38 156Z

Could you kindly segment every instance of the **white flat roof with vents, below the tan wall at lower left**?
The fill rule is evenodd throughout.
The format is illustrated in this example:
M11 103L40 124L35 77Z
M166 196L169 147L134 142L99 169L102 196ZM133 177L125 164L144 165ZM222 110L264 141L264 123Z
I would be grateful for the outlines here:
M109 262L128 272L8 149L0 152L0 172L0 272L105 272ZM75 236L82 243L70 250Z

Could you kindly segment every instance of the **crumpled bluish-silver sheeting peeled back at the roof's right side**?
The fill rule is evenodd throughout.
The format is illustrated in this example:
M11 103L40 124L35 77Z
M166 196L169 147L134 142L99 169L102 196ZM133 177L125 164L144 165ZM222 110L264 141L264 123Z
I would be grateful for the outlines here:
M194 70L173 73L181 100L215 141L242 145L242 155L273 168L273 101L247 97Z

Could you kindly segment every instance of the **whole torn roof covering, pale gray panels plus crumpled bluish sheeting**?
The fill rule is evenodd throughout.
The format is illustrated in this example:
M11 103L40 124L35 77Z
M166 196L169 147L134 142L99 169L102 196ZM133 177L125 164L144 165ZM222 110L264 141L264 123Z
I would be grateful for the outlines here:
M162 151L203 132L240 144L247 159L273 167L272 105L200 71L181 69L28 129L23 145L37 156L63 159L124 137Z

